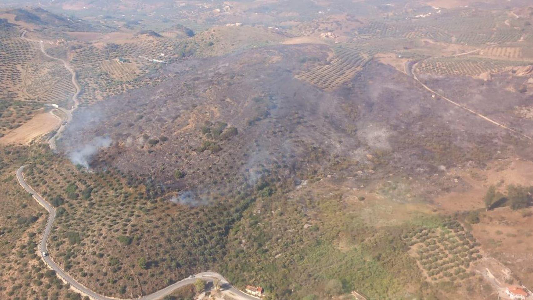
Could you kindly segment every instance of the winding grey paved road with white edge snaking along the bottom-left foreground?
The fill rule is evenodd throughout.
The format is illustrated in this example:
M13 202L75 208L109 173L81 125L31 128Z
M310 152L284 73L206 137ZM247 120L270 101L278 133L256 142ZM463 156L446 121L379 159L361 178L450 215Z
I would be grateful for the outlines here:
M46 221L46 226L43 232L43 237L41 239L41 242L38 245L39 248L39 255L41 256L42 260L52 269L56 272L58 277L63 280L64 282L67 282L70 284L70 287L76 290L78 293L82 293L83 295L89 296L93 300L117 300L118 298L114 297L106 297L100 294L95 293L94 291L86 288L81 283L77 282L74 278L70 277L67 272L63 271L61 267L56 264L50 255L43 256L42 252L48 253L48 249L46 247L48 238L50 237L50 232L52 231L52 224L55 220L55 208L46 201L41 195L39 195L33 188L31 188L26 180L24 179L24 168L26 166L21 166L17 169L17 180L19 181L19 184L22 188L24 188L28 193L31 194L31 196L38 202L38 204L42 205L48 212L48 220ZM235 298L237 300L257 300L258 298L253 297L251 295L245 294L242 291L236 289L235 287L231 286L227 279L225 279L221 274L215 273L215 272L202 272L195 275L194 278L185 278L183 280L177 281L173 283L172 285L167 286L166 288L160 289L156 291L155 293L152 293L150 295L142 296L140 298L136 298L136 300L157 300L160 298L163 298L164 296L172 293L173 290L176 288L180 288L186 285L189 285L191 283L194 283L196 279L202 279L206 282L212 282L215 279L220 281L220 285L222 286L222 293L225 295L228 295L232 298Z

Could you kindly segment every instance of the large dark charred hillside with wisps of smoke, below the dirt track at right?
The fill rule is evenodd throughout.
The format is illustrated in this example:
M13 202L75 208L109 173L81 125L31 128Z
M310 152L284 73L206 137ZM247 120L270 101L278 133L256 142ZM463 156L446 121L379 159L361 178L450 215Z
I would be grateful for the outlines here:
M71 155L109 137L92 167L203 193L269 174L295 184L409 176L440 189L432 175L442 166L483 166L505 155L502 140L520 144L377 61L333 92L295 78L326 58L326 46L287 45L174 63L159 85L78 111L61 149Z

